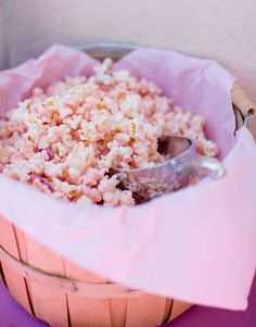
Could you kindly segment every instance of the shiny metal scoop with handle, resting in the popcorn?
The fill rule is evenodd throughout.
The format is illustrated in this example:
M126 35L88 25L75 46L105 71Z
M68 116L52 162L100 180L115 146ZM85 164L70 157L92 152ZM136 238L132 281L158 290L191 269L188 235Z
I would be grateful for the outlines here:
M166 161L150 168L114 169L121 189L133 192L138 202L172 192L194 180L225 175L222 163L209 156L197 156L195 143L189 138L167 136L158 140L158 152Z

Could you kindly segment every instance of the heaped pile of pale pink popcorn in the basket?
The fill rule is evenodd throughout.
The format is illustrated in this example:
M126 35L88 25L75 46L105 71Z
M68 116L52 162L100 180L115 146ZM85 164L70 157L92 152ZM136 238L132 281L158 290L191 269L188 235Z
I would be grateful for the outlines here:
M152 167L165 159L157 139L193 138L197 152L215 156L204 120L175 106L153 83L111 71L35 88L0 121L0 173L56 199L105 205L135 204L111 168Z

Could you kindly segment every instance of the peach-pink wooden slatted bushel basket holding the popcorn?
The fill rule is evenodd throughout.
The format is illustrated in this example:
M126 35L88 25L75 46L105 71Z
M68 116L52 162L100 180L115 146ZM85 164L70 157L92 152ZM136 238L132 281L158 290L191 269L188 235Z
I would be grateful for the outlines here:
M135 49L127 45L82 48L97 59L114 60ZM234 85L238 126L254 106ZM129 290L71 263L0 216L0 275L10 293L30 314L53 327L155 327L170 322L191 304Z

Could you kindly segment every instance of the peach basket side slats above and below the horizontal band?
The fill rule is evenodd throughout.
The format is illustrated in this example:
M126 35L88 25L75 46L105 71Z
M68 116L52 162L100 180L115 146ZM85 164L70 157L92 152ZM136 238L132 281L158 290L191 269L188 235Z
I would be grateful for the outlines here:
M0 216L0 246L18 261L54 276L104 286L110 281L52 252ZM87 298L66 292L56 285L41 284L16 271L8 255L2 256L1 274L10 293L33 315L53 327L155 327L169 322L190 304L136 292L116 297Z

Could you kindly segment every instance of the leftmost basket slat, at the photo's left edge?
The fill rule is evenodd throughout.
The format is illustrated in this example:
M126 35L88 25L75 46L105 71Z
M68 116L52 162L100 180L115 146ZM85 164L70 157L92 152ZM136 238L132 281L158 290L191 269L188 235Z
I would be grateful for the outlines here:
M15 259L21 260L13 225L2 216L0 216L0 244L4 247L4 249L7 249ZM17 274L10 268L4 262L1 262L1 266L10 293L22 306L24 306L29 313L33 313L25 279L21 274Z

